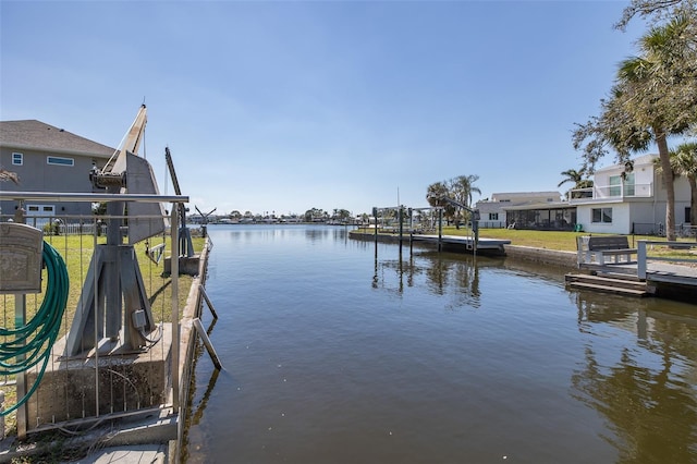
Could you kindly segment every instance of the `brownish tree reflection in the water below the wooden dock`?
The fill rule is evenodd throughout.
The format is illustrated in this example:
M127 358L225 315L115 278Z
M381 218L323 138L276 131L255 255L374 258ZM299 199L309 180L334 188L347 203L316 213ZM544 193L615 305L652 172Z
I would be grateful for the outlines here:
M636 345L616 346L586 339L585 365L572 376L572 395L607 420L601 437L619 451L621 463L694 462L697 454L697 317L694 307L667 312L641 302L626 309L616 298L575 295L578 329L607 335L637 334ZM656 308L653 308L653 307ZM597 347L597 345L599 347ZM604 349L604 350L603 350Z

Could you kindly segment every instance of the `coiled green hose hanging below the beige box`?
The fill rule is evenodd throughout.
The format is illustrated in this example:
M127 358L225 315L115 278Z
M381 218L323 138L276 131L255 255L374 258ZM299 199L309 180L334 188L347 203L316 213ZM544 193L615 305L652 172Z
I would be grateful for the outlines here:
M0 376L26 371L41 362L42 365L36 381L24 398L17 399L14 406L0 412L2 416L26 403L41 382L65 310L70 286L65 261L56 248L46 242L42 256L48 273L46 296L39 310L25 326L13 330L0 327L0 337L12 339L0 344Z

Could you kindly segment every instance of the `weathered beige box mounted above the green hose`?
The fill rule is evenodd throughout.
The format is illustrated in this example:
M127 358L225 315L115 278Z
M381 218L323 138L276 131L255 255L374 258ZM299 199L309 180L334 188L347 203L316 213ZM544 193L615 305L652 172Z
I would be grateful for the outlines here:
M0 222L0 294L39 293L44 233L16 222Z

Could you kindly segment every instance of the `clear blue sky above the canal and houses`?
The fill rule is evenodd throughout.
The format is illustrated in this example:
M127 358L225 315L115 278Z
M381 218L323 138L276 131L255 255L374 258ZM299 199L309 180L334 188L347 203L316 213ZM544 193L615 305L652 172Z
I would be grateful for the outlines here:
M481 198L557 191L636 52L626 4L2 0L0 119L117 147L145 99L160 192L169 146L217 213L419 207L461 174Z

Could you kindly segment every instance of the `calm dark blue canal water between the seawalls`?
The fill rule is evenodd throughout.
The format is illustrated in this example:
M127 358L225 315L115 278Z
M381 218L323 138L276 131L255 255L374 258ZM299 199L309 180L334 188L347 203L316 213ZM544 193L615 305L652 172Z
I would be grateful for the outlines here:
M697 305L344 228L208 230L224 370L198 357L186 462L697 462Z

